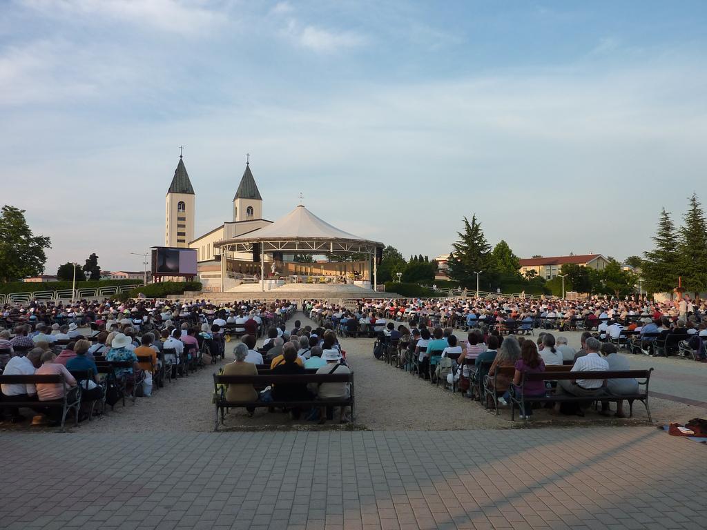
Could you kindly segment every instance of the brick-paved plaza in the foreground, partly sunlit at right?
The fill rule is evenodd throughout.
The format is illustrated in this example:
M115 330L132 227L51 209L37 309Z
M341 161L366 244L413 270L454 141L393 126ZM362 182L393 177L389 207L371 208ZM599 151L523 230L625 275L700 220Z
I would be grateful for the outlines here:
M703 529L707 519L707 447L655 428L15 432L0 443L7 529Z

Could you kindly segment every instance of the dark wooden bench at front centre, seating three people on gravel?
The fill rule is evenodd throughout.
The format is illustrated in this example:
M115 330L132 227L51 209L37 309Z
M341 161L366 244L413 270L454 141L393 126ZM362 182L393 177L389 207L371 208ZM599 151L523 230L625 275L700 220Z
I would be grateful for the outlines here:
M303 401L226 401L226 387L229 384L252 384L253 387L267 387L270 384L309 384L309 383L349 383L351 396L344 399L309 399ZM219 387L218 385L226 385ZM303 374L303 375L218 375L214 374L214 393L216 399L216 420L214 422L214 431L218 430L219 412L221 413L221 425L225 425L224 417L227 408L246 408L246 407L321 407L321 406L350 406L351 407L351 424L354 423L354 374Z

